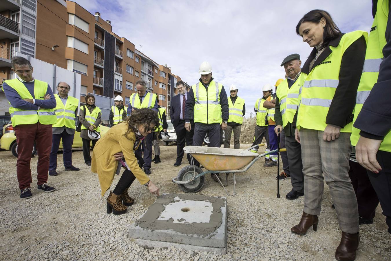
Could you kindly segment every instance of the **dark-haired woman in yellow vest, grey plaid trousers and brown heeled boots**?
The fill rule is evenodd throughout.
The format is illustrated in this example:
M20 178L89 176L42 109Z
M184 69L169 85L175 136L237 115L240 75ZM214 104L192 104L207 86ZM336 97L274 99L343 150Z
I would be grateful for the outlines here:
M307 77L295 130L305 175L304 209L291 231L303 235L310 227L316 230L326 182L342 230L335 259L354 260L360 236L357 198L348 175L350 135L368 33L342 33L330 14L319 9L300 19L296 33L313 49L301 68Z

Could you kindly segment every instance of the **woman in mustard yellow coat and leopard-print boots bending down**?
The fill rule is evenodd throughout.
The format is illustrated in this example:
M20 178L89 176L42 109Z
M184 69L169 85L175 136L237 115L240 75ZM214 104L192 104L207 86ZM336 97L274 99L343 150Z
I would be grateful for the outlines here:
M159 118L156 112L143 108L136 110L129 117L128 121L113 126L104 137L100 138L92 153L91 171L98 173L102 196L113 183L117 171L118 160L125 158L129 169L126 169L117 186L110 191L107 198L107 213L124 214L126 206L133 205L133 198L127 190L135 178L148 187L149 191L159 196L159 189L153 184L145 172L140 169L134 150L138 148L142 140L155 126L159 125ZM123 202L123 203L122 203Z

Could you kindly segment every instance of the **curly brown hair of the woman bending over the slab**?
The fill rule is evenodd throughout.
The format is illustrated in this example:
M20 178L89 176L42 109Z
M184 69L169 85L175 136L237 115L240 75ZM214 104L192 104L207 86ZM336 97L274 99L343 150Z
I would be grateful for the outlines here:
M149 108L135 110L126 120L128 124L128 130L125 135L129 133L129 131L134 131L135 127L137 128L139 125L145 125L149 127L150 124L155 124L155 126L159 126L158 113Z

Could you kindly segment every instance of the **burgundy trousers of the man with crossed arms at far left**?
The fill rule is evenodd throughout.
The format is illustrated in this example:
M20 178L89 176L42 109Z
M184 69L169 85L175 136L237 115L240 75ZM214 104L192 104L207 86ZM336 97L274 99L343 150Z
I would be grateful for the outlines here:
M14 127L16 142L18 142L18 161L16 176L19 189L30 187L32 182L30 160L34 141L38 150L37 179L38 185L48 180L50 149L52 148L52 124L44 125L39 122L22 124Z

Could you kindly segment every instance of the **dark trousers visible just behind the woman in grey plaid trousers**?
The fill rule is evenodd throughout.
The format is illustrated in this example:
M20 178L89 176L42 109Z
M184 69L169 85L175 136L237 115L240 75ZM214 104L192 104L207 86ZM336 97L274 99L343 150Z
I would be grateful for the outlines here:
M358 162L352 160L349 160L349 166L349 178L356 194L359 216L365 219L373 219L379 199L369 181L367 170Z

